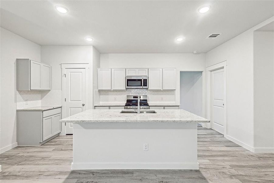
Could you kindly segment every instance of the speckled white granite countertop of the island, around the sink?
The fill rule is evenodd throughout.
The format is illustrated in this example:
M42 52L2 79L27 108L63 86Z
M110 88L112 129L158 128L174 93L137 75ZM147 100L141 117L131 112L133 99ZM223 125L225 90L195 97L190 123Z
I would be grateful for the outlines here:
M183 109L155 109L157 113L120 113L121 109L89 109L60 122L72 123L209 123L203 117ZM126 111L130 111L127 109ZM142 110L141 110L142 111Z

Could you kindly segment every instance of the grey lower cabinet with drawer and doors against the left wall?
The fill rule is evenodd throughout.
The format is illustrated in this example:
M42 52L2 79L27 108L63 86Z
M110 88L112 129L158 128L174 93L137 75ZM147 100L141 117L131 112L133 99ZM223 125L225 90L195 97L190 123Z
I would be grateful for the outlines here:
M61 108L17 111L18 145L42 145L61 132Z

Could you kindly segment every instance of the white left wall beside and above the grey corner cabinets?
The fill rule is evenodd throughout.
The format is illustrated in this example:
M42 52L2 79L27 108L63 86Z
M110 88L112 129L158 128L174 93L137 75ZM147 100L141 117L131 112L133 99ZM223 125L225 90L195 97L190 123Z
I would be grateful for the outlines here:
M40 45L1 27L1 138L0 152L17 145L16 140L16 59L40 61Z

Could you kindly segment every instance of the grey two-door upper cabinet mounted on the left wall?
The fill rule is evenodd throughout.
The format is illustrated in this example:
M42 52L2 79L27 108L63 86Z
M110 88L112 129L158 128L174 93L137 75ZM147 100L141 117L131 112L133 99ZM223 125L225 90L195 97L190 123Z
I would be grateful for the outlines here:
M16 59L17 90L50 90L51 66L30 59Z

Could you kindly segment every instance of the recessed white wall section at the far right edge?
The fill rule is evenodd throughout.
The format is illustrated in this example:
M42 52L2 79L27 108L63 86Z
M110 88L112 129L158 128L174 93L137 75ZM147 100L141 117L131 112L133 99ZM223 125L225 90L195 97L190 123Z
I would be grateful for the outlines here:
M274 148L274 31L254 31L254 147ZM274 151L273 151L274 152Z

